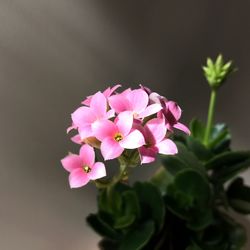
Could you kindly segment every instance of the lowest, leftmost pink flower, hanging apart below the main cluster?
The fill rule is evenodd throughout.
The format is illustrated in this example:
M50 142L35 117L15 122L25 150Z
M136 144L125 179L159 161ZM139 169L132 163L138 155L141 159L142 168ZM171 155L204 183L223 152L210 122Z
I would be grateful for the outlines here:
M61 160L63 167L70 172L69 184L71 188L86 185L89 180L96 180L106 176L102 162L95 163L95 152L89 145L83 145L79 155L70 154Z

